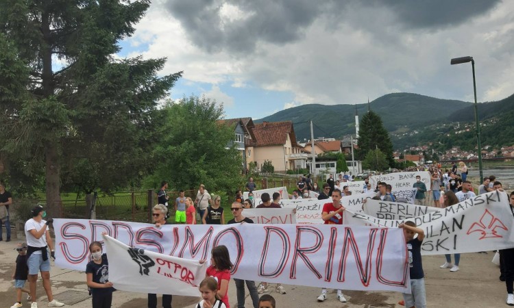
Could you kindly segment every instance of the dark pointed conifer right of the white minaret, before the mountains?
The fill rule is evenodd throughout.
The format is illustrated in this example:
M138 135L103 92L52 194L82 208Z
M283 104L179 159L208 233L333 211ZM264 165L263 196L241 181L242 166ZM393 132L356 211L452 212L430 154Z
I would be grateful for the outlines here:
M369 151L379 149L386 157L387 164L394 166L393 143L389 138L389 133L382 125L382 119L373 111L368 112L360 120L358 132L358 151L359 159L365 159Z

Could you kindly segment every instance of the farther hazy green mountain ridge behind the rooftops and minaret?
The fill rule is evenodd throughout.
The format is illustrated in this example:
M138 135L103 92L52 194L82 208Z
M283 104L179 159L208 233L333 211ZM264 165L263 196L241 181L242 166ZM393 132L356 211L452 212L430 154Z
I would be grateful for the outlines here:
M431 125L449 114L472 106L463 101L436 99L413 93L393 93L371 101L369 107L380 114L384 127L389 132L411 131ZM254 120L277 122L293 121L297 140L310 139L310 120L313 121L314 136L343 138L355 134L355 110L361 116L367 112L368 104L356 105L301 105Z

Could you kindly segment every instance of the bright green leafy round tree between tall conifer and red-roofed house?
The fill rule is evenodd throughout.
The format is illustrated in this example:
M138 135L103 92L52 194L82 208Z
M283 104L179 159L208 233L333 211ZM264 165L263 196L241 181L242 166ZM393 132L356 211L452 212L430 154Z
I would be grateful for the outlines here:
M219 123L223 106L192 96L180 103L168 101L160 112L162 138L154 142L156 172L149 178L154 187L162 180L184 190L200 183L210 192L233 193L242 187L243 157L231 144L234 126Z

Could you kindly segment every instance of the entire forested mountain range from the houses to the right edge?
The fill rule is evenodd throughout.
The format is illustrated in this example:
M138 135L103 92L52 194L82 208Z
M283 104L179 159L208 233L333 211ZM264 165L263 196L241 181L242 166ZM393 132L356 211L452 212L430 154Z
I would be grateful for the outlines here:
M476 147L474 104L464 101L436 99L413 93L393 93L371 101L369 107L382 117L391 133L395 149L434 144L441 151L452 146L472 150ZM254 120L275 122L291 120L297 140L310 139L310 120L315 138L343 138L355 134L355 110L361 116L368 104L302 105ZM514 144L514 94L500 101L478 104L482 125L482 146Z

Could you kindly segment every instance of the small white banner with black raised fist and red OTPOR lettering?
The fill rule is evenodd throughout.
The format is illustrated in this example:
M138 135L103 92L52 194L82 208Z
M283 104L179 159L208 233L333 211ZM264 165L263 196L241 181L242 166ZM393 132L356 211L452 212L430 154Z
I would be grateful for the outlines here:
M108 235L103 237L109 262L109 281L117 290L198 296L207 262L131 248Z

